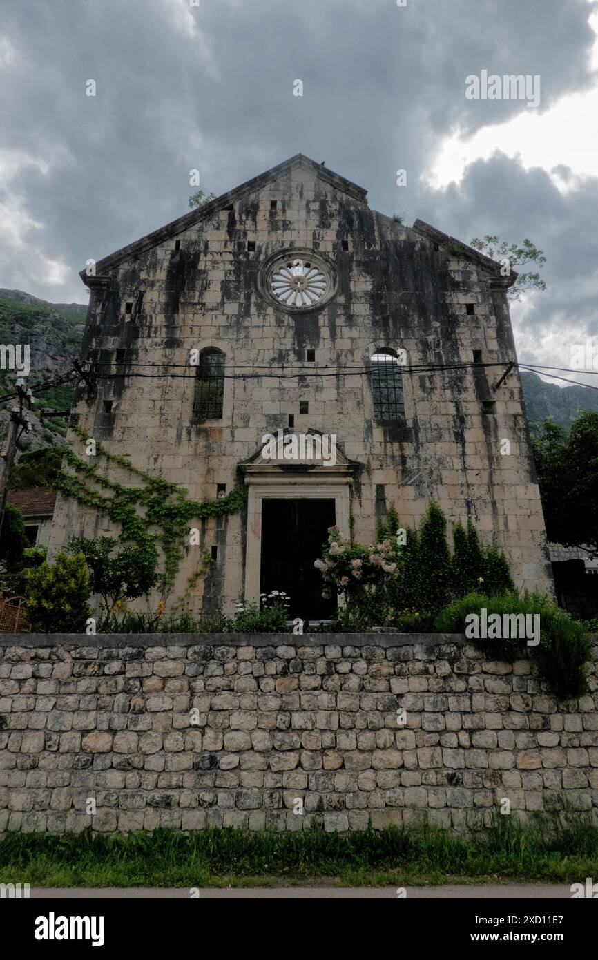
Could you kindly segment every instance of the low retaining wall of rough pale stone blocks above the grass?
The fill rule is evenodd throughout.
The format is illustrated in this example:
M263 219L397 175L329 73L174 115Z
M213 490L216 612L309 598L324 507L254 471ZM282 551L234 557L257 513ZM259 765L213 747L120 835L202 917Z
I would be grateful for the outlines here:
M465 829L503 798L523 818L598 807L596 660L590 692L558 702L527 656L486 660L454 635L21 635L0 650L1 828Z

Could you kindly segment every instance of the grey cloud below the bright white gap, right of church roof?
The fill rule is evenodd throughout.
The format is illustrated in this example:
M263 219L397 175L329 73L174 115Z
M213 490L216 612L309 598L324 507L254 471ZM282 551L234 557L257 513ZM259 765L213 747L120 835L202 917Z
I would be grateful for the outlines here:
M525 304L526 346L519 348L519 358L550 363L552 357L568 366L580 339L598 336L598 179L558 170L567 184L564 193L546 171L526 171L516 159L497 154L477 160L458 186L422 198L421 217L435 218L467 243L491 233L516 243L529 237L541 248L546 265L540 276L547 289Z

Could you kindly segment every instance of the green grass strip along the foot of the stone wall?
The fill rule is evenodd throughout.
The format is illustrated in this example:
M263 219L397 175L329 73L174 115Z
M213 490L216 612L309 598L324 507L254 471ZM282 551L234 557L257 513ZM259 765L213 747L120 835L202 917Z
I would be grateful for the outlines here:
M598 875L598 826L583 814L562 825L495 815L482 834L426 825L276 832L205 828L128 834L18 833L0 839L0 882L32 886L256 886L574 882Z

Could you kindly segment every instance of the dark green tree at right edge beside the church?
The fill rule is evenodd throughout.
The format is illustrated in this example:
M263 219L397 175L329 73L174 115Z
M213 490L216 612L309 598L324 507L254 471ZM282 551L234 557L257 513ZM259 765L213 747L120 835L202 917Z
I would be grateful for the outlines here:
M598 413L580 410L568 433L548 418L532 444L548 540L598 556Z

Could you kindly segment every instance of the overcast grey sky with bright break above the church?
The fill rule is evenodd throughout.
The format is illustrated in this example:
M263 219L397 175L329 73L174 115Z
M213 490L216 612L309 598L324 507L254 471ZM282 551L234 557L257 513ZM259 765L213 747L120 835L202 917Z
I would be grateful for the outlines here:
M85 302L87 257L187 212L190 169L218 195L300 152L408 224L530 237L519 358L594 337L598 370L597 0L195 2L3 0L0 287ZM482 70L538 75L539 107L468 100Z

